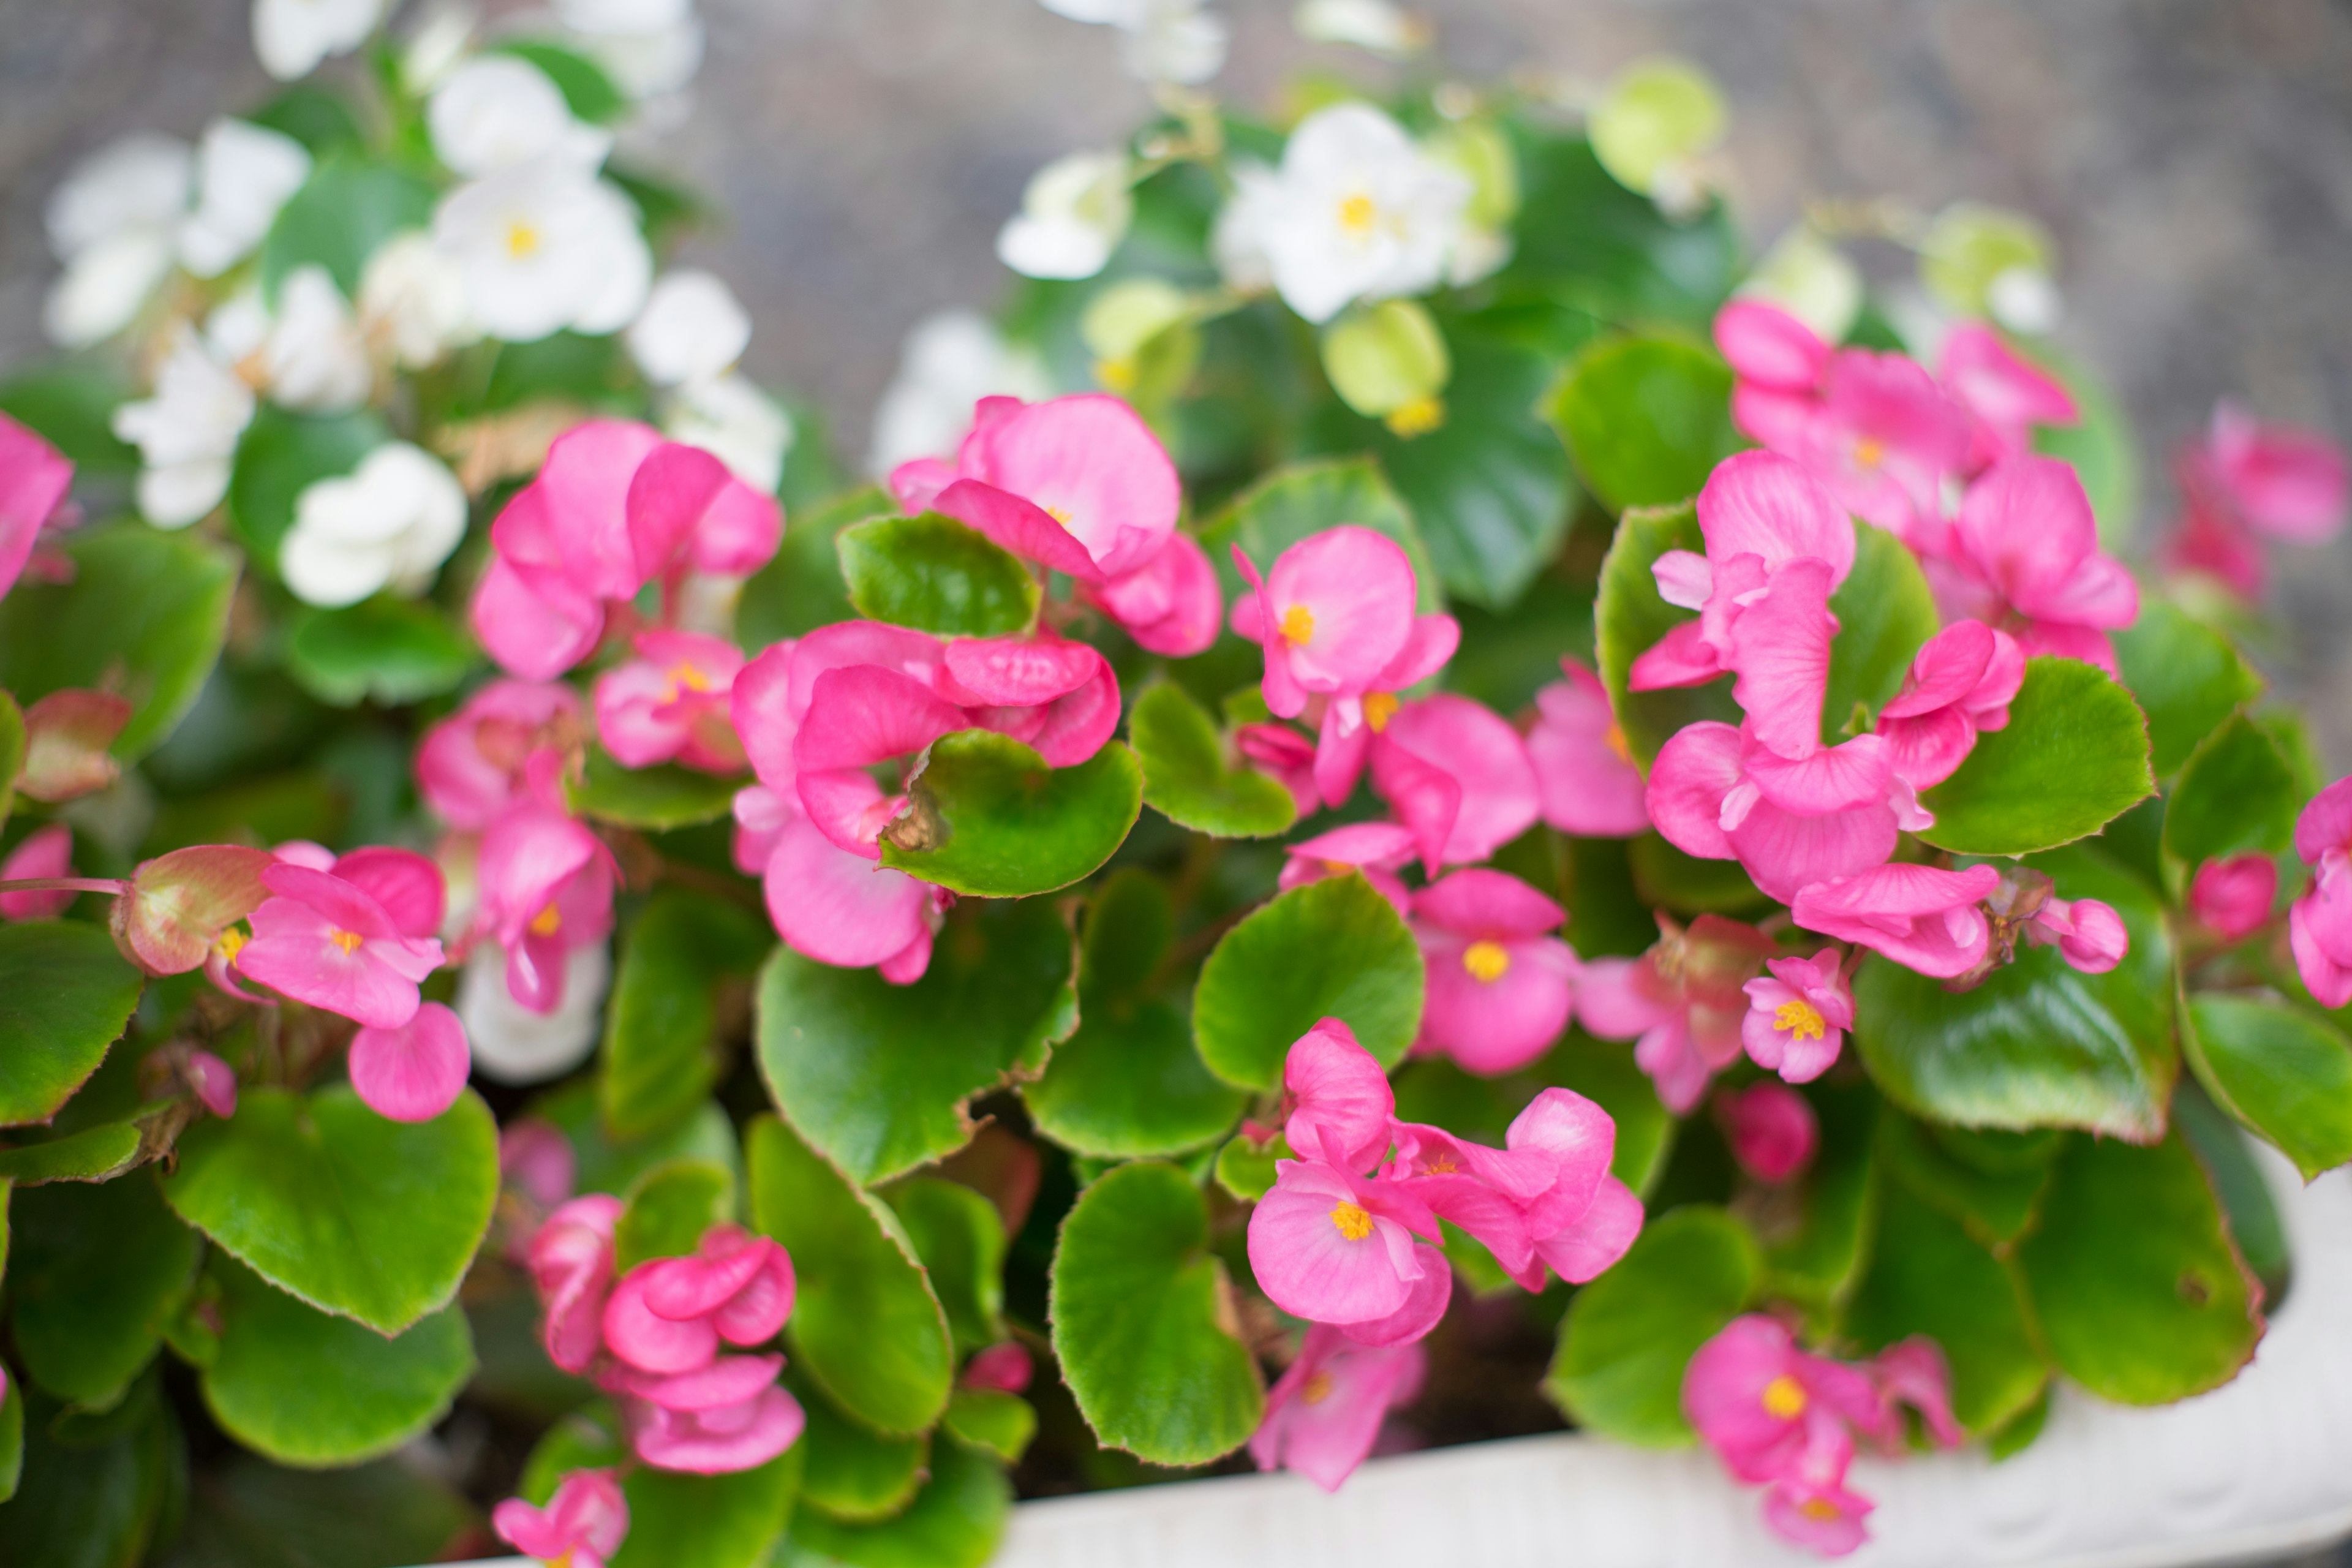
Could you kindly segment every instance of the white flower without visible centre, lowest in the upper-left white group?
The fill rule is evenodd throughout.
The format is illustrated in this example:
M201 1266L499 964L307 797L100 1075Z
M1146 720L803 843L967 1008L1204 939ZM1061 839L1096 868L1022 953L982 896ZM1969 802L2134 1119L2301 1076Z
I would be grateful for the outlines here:
M341 609L390 588L419 595L466 538L466 489L440 458L386 442L341 480L294 498L278 576L303 604Z

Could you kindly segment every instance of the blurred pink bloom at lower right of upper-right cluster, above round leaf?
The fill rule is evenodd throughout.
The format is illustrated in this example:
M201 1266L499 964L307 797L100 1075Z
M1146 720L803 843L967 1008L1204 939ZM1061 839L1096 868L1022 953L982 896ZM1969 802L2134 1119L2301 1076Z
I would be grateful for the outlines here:
M2140 588L2098 548L2098 522L2072 463L2009 458L1959 503L1950 552L1929 557L1950 616L2011 632L2027 656L2082 658L2114 675L2107 632L2140 616Z

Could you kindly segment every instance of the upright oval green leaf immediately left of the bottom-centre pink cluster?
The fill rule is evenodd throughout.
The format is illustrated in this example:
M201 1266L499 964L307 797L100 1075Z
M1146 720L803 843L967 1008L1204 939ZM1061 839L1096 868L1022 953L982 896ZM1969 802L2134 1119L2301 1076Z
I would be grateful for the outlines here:
M1209 1251L1209 1208L1176 1166L1120 1166L1077 1197L1049 1316L1063 1382L1105 1448L1204 1465L1258 1427L1258 1363Z

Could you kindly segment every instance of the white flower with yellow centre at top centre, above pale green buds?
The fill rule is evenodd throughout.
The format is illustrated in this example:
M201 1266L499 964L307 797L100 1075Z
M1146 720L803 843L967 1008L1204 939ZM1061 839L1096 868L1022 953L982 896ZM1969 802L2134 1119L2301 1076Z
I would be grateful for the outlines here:
M1327 322L1357 299L1425 294L1461 242L1470 179L1369 103L1308 115L1282 153L1261 242L1282 301Z

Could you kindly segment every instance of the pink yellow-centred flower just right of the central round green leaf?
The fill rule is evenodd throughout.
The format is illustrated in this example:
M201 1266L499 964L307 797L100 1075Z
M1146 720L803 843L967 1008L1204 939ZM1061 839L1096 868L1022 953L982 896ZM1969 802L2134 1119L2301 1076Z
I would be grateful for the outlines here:
M1414 1051L1484 1077L1517 1072L1569 1027L1576 952L1548 936L1569 919L1505 872L1472 867L1414 893L1428 1006Z

